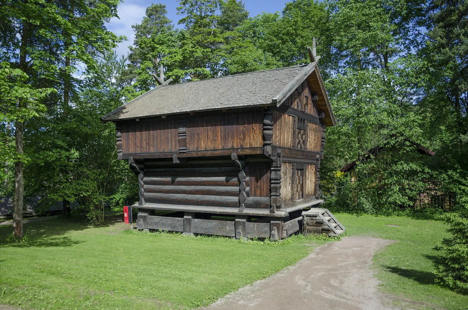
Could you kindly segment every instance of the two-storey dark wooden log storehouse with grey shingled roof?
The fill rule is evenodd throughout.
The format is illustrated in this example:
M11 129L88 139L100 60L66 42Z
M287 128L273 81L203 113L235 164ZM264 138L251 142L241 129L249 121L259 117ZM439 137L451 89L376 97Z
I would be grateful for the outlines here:
M161 76L102 117L138 175L138 229L274 240L303 230L303 209L323 202L325 128L335 125L320 56L309 55L307 65L201 81Z

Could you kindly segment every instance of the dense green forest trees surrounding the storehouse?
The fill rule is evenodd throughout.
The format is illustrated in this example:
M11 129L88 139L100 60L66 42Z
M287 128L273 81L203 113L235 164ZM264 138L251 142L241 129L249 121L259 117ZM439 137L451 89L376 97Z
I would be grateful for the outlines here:
M337 120L320 172L329 207L439 213L411 208L437 188L457 209L468 189L465 1L294 0L253 17L236 0L178 3L177 25L164 5L148 7L119 58L124 37L105 26L118 0L0 0L0 195L20 203L24 188L44 210L77 201L102 223L105 203L138 197L138 180L117 161L115 125L100 118L154 88L161 64L173 83L296 66L316 38ZM394 151L366 157L375 146ZM354 160L350 182L339 170Z

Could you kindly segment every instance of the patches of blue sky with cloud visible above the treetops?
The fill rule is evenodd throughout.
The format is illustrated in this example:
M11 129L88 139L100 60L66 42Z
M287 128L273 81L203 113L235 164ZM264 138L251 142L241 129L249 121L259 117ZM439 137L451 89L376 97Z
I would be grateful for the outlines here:
M244 0L245 8L249 11L250 16L255 16L262 12L274 13L282 11L285 3L288 0ZM151 3L165 4L168 9L168 18L172 20L177 26L177 22L181 18L177 15L176 7L178 3L176 0L127 0L121 3L118 7L118 16L120 19L112 18L107 24L109 30L119 36L126 36L128 41L124 41L117 47L117 53L120 55L127 55L128 45L133 42L132 25L140 23L145 15L146 7ZM180 27L180 26L179 26Z

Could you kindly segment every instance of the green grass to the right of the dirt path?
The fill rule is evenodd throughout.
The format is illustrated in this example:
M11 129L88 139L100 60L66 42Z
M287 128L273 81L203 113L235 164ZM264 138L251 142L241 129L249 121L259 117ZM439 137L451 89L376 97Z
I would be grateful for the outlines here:
M421 309L468 309L468 295L456 294L434 284L432 262L437 252L432 247L449 236L441 221L402 217L372 217L334 214L346 227L347 235L373 236L397 240L374 258L380 288L389 295L408 298L409 307ZM398 225L388 227L385 225ZM405 301L402 301L405 304Z

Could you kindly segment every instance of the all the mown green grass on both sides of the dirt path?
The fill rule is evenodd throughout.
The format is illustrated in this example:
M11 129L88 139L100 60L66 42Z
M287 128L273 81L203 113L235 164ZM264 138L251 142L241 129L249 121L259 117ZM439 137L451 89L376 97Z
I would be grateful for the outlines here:
M420 308L468 309L468 296L433 284L439 221L336 214L347 235L398 240L374 257L381 288ZM387 227L395 224L399 227ZM0 304L23 309L180 309L211 303L307 256L324 240L241 242L88 228L76 218L25 224L29 240L0 245ZM12 231L0 226L0 242ZM403 302L404 303L404 302ZM409 303L413 305L413 303Z

